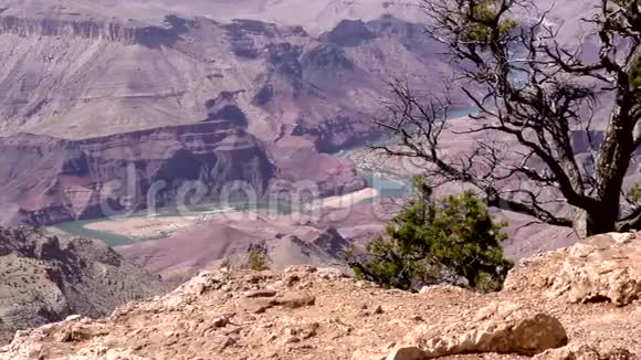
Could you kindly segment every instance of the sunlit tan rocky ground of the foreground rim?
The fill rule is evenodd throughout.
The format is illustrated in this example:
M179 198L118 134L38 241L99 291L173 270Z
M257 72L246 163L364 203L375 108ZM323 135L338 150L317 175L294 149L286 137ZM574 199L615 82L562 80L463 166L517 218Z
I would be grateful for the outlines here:
M389 290L311 266L209 271L105 319L21 331L0 359L634 359L639 235L524 261L490 295Z

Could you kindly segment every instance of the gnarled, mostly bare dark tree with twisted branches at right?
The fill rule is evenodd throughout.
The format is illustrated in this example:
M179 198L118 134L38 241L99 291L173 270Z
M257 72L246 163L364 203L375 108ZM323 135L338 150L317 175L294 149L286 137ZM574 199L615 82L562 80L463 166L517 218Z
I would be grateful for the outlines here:
M585 214L588 235L639 229L641 204L624 209L622 201L641 145L641 12L638 0L599 1L585 20L598 44L589 59L581 44L561 43L548 11L528 0L422 0L428 34L449 50L479 108L459 135L483 141L465 156L444 155L449 102L425 104L396 83L379 124L399 144L375 148L418 159L428 179L466 183L490 205L548 224L576 225L558 211L565 205ZM601 99L612 105L599 123ZM577 159L577 138L589 141L588 159Z

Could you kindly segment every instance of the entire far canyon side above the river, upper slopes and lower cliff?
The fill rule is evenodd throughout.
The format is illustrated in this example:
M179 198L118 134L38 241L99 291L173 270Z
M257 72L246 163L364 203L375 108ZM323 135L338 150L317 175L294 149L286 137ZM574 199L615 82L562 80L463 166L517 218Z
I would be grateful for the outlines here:
M377 15L336 14L316 33L161 2L104 6L0 2L3 224L143 210L160 180L159 208L195 180L209 201L230 181L260 199L302 181L320 197L361 190L356 166L330 153L380 136L371 118L388 81L451 73L420 23L376 1L364 7ZM112 189L126 171L138 179Z

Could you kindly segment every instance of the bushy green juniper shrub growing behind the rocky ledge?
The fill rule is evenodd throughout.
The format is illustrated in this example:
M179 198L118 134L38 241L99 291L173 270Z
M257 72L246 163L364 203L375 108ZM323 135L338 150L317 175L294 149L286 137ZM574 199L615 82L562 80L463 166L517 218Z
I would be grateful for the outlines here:
M513 267L501 247L506 224L494 222L470 192L432 201L420 178L414 192L386 234L368 244L367 256L346 254L357 276L407 290L439 283L501 289Z

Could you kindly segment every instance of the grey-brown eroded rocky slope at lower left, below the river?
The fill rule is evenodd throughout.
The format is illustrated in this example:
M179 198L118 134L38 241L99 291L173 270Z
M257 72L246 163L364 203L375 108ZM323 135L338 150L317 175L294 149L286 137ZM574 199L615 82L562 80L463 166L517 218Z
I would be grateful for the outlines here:
M107 316L167 289L101 243L0 229L0 335L74 314Z

